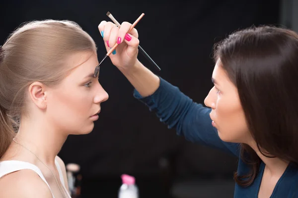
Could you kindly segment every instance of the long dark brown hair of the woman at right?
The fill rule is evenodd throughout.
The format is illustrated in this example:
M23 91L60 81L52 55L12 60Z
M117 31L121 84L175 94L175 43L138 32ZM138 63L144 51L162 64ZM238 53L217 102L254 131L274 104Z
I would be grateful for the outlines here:
M260 26L237 31L215 46L228 77L237 87L246 123L267 157L298 163L298 35L291 30ZM241 144L248 175L234 174L247 187L261 159Z

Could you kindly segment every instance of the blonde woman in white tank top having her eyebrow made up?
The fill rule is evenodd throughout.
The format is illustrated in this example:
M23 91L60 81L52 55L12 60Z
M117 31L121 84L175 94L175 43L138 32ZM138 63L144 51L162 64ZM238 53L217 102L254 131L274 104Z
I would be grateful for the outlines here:
M57 154L68 135L92 131L108 99L97 65L71 21L24 24L0 47L0 198L70 198Z

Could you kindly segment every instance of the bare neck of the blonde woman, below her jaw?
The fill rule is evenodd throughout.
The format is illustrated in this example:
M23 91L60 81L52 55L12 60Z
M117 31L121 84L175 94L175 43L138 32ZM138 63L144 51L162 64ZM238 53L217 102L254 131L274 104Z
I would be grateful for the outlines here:
M34 120L33 123L26 118L21 119L15 141L25 147L24 149L32 151L43 163L54 165L55 157L65 143L67 135L43 120Z

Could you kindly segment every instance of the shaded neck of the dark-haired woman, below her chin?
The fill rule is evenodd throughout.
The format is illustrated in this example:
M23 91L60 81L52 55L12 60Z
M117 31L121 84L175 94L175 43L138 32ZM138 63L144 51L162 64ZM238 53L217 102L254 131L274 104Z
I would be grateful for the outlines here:
M274 158L266 157L265 155L262 154L262 152L264 153L264 151L262 150L261 152L255 142L248 145L254 149L254 151L257 153L257 155L266 165L267 170L269 170L272 175L282 175L285 172L286 168L289 165L289 161L283 160L278 157L274 157ZM266 154L267 156L271 156L266 152L264 154Z

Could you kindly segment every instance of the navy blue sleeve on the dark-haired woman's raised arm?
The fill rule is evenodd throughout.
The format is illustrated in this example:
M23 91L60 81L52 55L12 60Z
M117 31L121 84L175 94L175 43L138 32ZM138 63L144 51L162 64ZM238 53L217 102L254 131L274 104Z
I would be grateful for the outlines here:
M145 103L150 111L156 113L159 120L168 128L175 128L177 135L186 140L199 143L239 156L239 144L226 143L218 135L217 129L212 126L209 116L210 108L193 102L177 87L160 78L159 88L151 96L143 98L137 90L134 97Z

